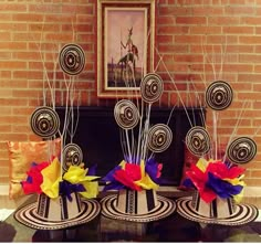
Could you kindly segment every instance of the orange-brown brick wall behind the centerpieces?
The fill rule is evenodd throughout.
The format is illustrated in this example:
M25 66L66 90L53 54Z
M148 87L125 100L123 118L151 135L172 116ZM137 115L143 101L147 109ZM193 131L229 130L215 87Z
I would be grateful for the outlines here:
M1 0L0 183L8 182L6 141L39 140L30 129L29 119L33 109L43 104L43 64L53 81L53 61L64 44L75 42L86 54L86 68L74 81L81 104L113 103L96 96L95 2ZM254 135L258 149L261 148L261 130L258 131L261 126L261 2L156 2L156 52L163 57L159 62L159 55L156 55L156 72L165 81L160 106L198 105L198 97L202 103L203 91L211 81L227 81L234 97L229 109L218 113L220 142L228 141L240 117L237 135L252 138ZM59 71L56 75L55 99L56 104L63 104L65 87ZM46 102L50 103L50 94L46 94ZM212 113L208 110L209 131L211 125ZM246 176L249 185L261 187L261 152L248 165Z

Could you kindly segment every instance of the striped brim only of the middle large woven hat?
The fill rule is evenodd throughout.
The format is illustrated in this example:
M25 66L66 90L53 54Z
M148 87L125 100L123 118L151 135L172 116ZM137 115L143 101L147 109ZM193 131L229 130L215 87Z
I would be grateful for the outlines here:
M118 211L118 209L116 208L117 203L116 194L107 195L101 201L102 214L104 216L115 220L124 220L133 222L150 222L166 218L176 211L177 205L174 201L164 198L161 195L157 195L157 200L158 200L158 205L148 213L127 214Z

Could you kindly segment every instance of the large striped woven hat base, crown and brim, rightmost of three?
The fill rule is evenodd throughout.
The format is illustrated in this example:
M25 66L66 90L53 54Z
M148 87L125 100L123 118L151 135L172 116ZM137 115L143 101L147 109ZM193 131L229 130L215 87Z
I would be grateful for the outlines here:
M222 225L242 225L254 221L259 211L251 204L236 204L230 199L217 198L206 203L198 191L192 197L185 197L177 200L177 212L195 222Z

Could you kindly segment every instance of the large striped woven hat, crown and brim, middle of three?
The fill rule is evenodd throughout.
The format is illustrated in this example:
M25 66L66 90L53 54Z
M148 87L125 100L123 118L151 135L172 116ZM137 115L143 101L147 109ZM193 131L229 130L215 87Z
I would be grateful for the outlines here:
M168 216L176 210L176 203L157 195L155 190L119 190L105 197L102 202L104 216L133 222L150 222Z

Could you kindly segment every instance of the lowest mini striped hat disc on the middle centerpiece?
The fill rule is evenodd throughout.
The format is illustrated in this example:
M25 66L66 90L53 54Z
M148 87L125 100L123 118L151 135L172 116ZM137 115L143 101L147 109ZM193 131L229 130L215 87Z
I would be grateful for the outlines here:
M148 148L154 152L165 151L173 141L171 129L164 124L157 124L148 130Z

